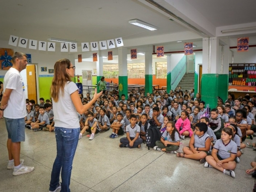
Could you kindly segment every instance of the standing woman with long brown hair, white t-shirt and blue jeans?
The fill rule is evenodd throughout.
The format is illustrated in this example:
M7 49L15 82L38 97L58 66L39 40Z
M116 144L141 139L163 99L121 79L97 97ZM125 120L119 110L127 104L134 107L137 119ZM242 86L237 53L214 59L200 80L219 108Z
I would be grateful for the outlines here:
M77 112L82 114L90 108L102 92L93 96L86 105L82 105L78 87L71 81L75 66L68 59L61 59L54 65L51 97L55 121L55 137L57 156L53 163L49 192L61 188L62 192L70 192L70 177L73 158L79 138L80 125ZM59 182L61 172L62 183Z

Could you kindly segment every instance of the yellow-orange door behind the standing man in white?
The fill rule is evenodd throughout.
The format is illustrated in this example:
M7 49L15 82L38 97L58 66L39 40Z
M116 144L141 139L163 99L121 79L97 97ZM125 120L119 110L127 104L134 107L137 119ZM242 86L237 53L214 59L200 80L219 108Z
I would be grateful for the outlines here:
M28 98L29 100L34 99L35 103L38 103L36 93L36 71L34 64L29 64L26 66L26 75L28 84Z

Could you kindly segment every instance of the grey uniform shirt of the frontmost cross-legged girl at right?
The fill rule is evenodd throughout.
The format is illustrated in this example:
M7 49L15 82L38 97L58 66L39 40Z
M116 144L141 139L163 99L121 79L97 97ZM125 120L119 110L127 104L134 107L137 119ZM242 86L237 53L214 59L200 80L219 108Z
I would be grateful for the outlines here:
M222 159L227 159L230 157L230 154L237 153L237 145L234 141L230 140L229 143L224 144L221 139L217 140L213 148L218 150L218 155Z

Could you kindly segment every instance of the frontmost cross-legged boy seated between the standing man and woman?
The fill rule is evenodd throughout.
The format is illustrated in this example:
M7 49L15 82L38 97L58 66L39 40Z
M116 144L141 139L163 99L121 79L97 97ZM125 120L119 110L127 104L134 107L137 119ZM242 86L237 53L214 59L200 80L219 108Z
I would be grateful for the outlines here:
M45 113L44 107L39 107L39 116L38 120L36 122L32 122L31 129L34 129L34 131L42 130L42 128L50 128L50 121L48 115Z

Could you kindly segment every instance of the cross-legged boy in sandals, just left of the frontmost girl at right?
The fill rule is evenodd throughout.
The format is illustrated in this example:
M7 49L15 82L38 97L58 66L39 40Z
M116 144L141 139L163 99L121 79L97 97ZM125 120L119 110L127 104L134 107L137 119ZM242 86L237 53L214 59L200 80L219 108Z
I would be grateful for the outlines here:
M184 147L183 153L177 153L177 157L200 160L200 163L204 163L205 157L210 154L211 149L211 138L206 133L207 129L206 123L195 124L195 133L191 136L189 147Z

